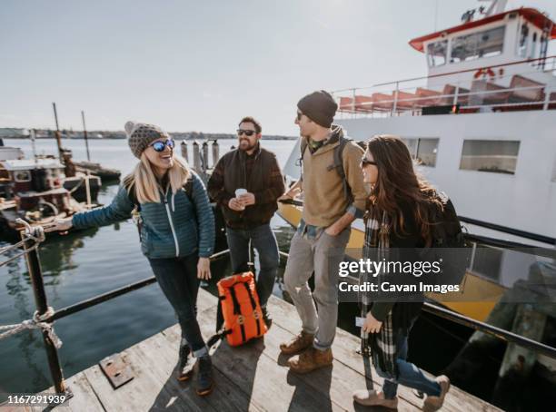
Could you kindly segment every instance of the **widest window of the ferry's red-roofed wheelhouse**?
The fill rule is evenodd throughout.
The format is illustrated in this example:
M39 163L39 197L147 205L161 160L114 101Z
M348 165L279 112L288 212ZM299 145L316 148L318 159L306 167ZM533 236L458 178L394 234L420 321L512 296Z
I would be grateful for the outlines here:
M451 62L459 63L502 53L505 26L479 33L461 35L452 40Z

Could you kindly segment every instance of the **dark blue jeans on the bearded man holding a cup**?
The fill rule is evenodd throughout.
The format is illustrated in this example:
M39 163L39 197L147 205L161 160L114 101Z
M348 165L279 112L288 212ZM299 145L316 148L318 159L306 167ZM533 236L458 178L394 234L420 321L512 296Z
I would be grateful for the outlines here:
M249 269L247 267L249 240L252 241L253 248L257 250L261 264L256 281L257 294L261 306L264 307L273 293L274 280L280 265L278 243L270 224L263 224L249 230L226 228L226 238L228 248L230 248L233 273L241 273Z

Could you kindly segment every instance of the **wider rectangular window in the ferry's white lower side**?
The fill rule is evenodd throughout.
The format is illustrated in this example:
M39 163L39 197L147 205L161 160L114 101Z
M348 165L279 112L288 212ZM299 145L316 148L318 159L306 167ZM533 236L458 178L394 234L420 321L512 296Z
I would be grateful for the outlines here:
M519 150L518 141L466 140L460 169L514 174Z

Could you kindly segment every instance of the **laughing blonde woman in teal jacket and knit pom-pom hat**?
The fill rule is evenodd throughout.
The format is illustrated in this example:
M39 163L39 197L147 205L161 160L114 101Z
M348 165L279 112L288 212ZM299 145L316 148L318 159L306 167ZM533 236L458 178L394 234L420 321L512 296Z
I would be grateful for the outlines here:
M111 204L56 221L48 231L104 226L138 211L141 250L170 301L182 341L178 380L191 378L198 363L197 394L213 389L212 362L196 319L199 280L211 277L214 217L203 181L175 155L174 140L158 126L125 123L128 143L140 162Z

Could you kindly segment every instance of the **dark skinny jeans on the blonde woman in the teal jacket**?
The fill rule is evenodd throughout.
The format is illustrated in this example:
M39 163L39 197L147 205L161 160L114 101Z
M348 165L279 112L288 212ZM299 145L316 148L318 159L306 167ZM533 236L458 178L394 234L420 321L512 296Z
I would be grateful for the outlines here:
M182 328L182 345L189 347L196 358L208 353L197 323L197 254L184 258L149 259L160 289L175 310Z

